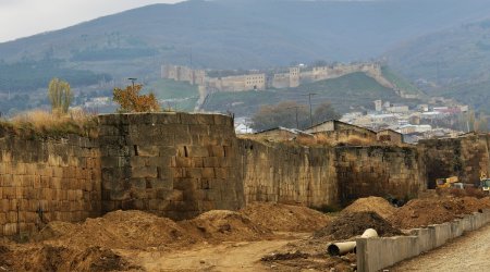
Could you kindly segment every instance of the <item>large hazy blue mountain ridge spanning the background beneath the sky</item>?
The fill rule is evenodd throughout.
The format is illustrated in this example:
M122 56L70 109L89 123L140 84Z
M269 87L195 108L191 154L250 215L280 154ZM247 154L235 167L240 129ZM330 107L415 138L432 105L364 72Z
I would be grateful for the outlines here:
M0 44L0 75L19 63L28 63L37 67L33 73L42 74L41 63L50 61L57 69L85 73L86 77L77 81L93 83L108 79L107 74L114 79L155 78L162 63L262 69L320 59L366 60L403 40L488 14L487 0L193 0L154 4ZM42 84L34 84L10 73L0 78L0 91L44 87L51 76L45 74Z

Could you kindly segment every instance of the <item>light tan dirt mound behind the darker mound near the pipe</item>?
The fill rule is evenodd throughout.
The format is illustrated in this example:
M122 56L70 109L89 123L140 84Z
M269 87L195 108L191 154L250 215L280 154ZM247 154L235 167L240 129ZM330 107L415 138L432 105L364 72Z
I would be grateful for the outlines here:
M362 211L372 211L378 213L381 218L388 219L396 211L396 208L382 197L367 197L359 198L342 210L342 213L353 213Z

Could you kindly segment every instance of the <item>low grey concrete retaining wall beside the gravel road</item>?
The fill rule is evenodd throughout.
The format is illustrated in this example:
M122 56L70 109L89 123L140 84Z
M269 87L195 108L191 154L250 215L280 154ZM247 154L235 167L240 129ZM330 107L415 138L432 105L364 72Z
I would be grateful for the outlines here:
M371 272L391 267L438 248L463 233L476 231L487 223L490 223L490 210L467 214L463 219L430 225L427 228L414 228L409 236L357 238L357 271Z

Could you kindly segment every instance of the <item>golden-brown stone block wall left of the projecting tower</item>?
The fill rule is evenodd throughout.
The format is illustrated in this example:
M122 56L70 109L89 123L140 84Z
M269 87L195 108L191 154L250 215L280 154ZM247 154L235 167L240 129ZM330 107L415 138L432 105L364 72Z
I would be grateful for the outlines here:
M100 215L100 159L88 138L0 138L0 236Z

